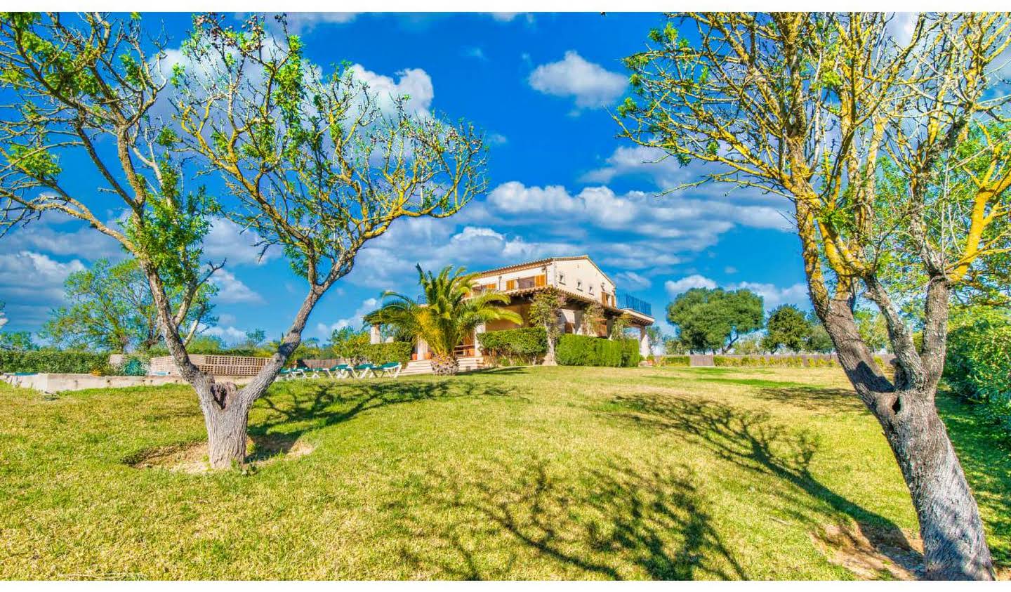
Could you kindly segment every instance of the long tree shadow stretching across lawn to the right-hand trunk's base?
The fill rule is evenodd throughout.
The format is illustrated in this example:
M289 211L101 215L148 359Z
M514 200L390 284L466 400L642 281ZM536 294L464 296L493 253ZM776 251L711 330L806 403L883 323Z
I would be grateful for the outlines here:
M677 430L721 458L826 502L834 517L852 518L860 534L880 553L911 573L922 575L922 554L914 549L895 522L839 495L811 473L811 461L821 447L820 439L811 431L790 430L773 424L766 413L715 401L620 396L613 403L612 409L624 407L624 416L640 425ZM789 488L777 488L773 493L788 502L787 507L796 507L800 501L792 498ZM790 513L801 522L811 522L801 511Z

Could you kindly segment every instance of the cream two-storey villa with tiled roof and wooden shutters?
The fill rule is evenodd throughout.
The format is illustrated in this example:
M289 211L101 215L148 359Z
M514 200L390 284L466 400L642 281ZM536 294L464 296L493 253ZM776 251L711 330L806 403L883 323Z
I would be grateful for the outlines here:
M619 295L614 280L587 255L550 257L489 269L477 276L474 292L496 290L509 294L512 302L505 308L519 313L527 322L534 295L548 286L559 289L567 297L559 318L563 333L584 334L583 311L590 304L596 303L604 310L605 321L590 333L605 337L610 334L615 319L627 315L631 326L639 329L640 352L644 356L649 355L649 337L646 328L654 322L650 305L628 293ZM468 336L457 347L457 355L461 358L475 358L474 363L479 364L481 346L478 334L518 327L519 325L509 321L496 321L486 326L479 326L473 335ZM371 341L379 343L379 327L372 327ZM429 357L428 344L424 341L417 343L412 358L426 360Z

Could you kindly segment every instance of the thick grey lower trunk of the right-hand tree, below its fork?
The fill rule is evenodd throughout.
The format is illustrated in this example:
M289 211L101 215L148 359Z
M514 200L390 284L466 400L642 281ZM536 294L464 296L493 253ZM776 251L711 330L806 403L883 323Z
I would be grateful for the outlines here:
M926 577L993 580L983 521L937 415L934 393L900 393L890 411L890 417L879 420L913 498Z

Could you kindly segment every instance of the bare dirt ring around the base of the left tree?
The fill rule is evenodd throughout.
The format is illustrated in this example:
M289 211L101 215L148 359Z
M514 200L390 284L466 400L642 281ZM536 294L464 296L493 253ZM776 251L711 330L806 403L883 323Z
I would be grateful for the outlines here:
M280 459L304 456L312 452L314 446L281 434L249 438L246 448L252 451L246 456L246 466L259 468ZM159 446L126 458L124 462L134 469L164 469L190 475L210 472L207 442Z

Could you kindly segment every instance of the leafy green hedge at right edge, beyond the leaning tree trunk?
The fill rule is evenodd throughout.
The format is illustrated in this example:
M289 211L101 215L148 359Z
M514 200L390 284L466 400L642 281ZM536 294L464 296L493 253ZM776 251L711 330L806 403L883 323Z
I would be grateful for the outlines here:
M981 315L948 333L944 379L1011 436L1011 319Z

